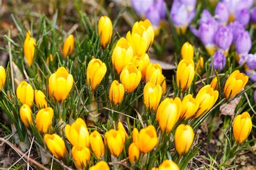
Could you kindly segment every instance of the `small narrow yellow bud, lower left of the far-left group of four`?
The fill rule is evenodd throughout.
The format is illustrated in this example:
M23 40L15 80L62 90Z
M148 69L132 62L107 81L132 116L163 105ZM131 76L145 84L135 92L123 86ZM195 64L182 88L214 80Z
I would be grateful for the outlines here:
M29 127L29 125L33 124L32 121L32 111L28 104L23 104L21 109L19 110L19 116L21 116L22 122Z

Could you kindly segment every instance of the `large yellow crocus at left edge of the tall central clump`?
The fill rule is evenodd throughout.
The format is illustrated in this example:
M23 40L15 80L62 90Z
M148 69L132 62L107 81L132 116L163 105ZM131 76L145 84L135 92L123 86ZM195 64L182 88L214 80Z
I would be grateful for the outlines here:
M130 43L125 38L120 38L112 53L112 64L118 75L122 72L123 68L131 62L132 57L133 49Z

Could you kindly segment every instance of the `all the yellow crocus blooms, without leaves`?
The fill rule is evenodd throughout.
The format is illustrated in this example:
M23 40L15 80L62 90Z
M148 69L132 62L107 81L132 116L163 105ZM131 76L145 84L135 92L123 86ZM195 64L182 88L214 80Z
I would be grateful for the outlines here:
M98 34L100 45L106 48L112 37L112 22L104 16L98 23ZM201 88L196 97L192 94L185 95L182 100L179 97L162 98L166 94L166 81L162 74L161 66L158 63L151 63L147 52L154 40L154 30L149 20L136 22L132 31L126 34L126 38L120 38L112 52L112 65L119 80L111 83L109 99L114 105L120 104L124 94L132 93L140 83L144 86L143 99L147 110L156 114L156 120L163 133L170 133L176 123L181 119L198 118L208 112L218 100L218 81L217 77ZM29 66L32 66L33 55L35 53L35 40L31 33L26 34L24 41L24 55ZM63 57L66 59L73 52L75 39L72 35L68 36L63 45ZM203 60L200 59L196 69L193 62L194 49L191 44L186 42L181 49L183 60L178 63L176 84L181 93L189 91L195 70L201 66ZM52 58L52 55L50 55ZM51 59L52 61L52 59ZM100 59L92 58L86 70L87 87L96 90L103 80L107 71L106 64ZM5 83L5 69L0 66L0 90ZM235 70L227 79L224 87L224 97L232 98L241 91L248 81L248 76ZM64 101L69 95L73 86L73 76L69 71L60 67L49 77L48 92L52 100ZM44 134L44 141L53 155L57 159L64 159L67 154L64 140L58 134L51 133L51 123L55 116L52 108L48 107L45 93L41 90L33 90L32 86L22 81L16 90L17 99L23 104L20 108L22 122L29 128L35 125L41 134ZM35 102L34 102L35 100ZM35 121L32 110L33 103L37 105L38 111ZM233 135L235 141L242 143L248 137L252 129L252 121L248 112L238 115L234 119ZM89 133L87 126L82 118L77 118L71 125L65 126L65 137L72 145L72 158L77 168L83 168L91 164L91 153L100 159L105 154L107 147L113 157L119 157L123 152L126 138L128 137L122 123L118 123L117 130L111 129L104 135L95 130ZM190 125L180 124L174 135L176 151L179 155L186 154L194 139L194 132ZM132 131L132 143L129 146L129 160L131 164L140 158L140 153L146 154L158 145L158 134L153 125L149 125L140 131L136 128ZM169 167L179 169L171 160L165 160L158 169ZM90 169L109 169L104 161L99 161ZM155 168L157 169L157 168Z

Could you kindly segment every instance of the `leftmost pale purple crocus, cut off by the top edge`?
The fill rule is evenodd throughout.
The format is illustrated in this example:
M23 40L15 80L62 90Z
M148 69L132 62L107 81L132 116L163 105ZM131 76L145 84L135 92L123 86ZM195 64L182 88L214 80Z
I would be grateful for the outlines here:
M140 17L144 17L146 11L153 5L154 0L147 0L146 3L143 0L131 0L132 8L138 13Z

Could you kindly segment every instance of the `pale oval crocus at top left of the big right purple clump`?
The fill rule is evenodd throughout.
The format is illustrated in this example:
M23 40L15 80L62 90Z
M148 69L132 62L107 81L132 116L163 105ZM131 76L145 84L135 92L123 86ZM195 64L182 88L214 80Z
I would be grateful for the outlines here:
M219 2L215 8L215 18L221 25L226 25L230 14L224 2Z

